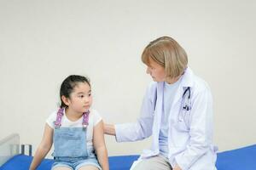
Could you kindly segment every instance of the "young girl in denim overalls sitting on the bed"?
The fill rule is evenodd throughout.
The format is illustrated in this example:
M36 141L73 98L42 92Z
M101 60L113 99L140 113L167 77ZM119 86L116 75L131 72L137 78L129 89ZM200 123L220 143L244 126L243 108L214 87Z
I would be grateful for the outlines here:
M61 107L52 113L44 127L44 137L30 170L38 167L54 144L52 170L108 170L102 117L90 109L90 82L72 75L61 84Z

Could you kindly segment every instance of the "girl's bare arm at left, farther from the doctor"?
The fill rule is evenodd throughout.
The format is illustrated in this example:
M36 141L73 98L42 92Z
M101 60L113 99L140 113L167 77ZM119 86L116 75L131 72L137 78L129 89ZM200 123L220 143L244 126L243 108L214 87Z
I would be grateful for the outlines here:
M33 157L32 163L29 167L30 170L35 170L41 163L41 161L44 159L44 157L47 155L52 145L52 138L53 129L49 127L49 125L46 123L44 127L43 139L38 146L38 150L36 151L35 156Z

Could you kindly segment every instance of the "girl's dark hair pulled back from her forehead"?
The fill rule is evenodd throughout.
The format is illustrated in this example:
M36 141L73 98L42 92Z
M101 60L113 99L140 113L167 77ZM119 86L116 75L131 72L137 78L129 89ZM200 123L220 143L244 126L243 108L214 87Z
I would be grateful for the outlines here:
M73 88L78 85L78 82L86 82L90 86L89 78L79 75L70 75L61 83L60 98L61 96L69 98L70 94L73 92ZM62 107L67 107L67 105L61 99L61 108Z

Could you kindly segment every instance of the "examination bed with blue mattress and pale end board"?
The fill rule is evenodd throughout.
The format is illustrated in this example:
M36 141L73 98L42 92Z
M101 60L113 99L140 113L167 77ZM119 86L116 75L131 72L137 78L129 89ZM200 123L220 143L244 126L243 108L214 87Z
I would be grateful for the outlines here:
M27 147L32 148L31 145ZM20 147L18 134L0 141L0 170L27 170L32 161L32 151L25 155L25 148L24 144ZM109 156L110 170L128 170L137 158L138 156ZM44 159L38 170L49 170L52 163L52 159ZM219 152L216 166L218 170L256 170L256 144Z

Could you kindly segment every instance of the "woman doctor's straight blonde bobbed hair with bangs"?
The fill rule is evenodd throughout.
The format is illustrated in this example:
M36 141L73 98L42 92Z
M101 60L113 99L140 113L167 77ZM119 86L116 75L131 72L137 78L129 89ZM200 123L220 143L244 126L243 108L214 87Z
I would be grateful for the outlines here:
M143 63L149 65L153 59L166 70L166 77L175 78L187 68L188 57L185 50L172 37L159 37L143 50Z

